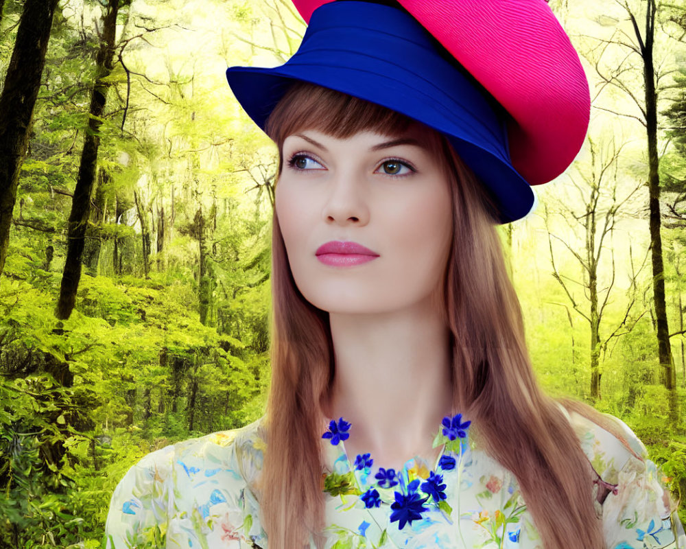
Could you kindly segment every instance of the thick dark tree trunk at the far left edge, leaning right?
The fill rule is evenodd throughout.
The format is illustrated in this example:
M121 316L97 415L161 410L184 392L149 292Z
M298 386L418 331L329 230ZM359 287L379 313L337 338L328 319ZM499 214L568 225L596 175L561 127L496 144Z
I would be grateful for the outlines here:
M0 275L5 268L19 172L58 0L26 0L0 95ZM0 18L4 0L0 0Z

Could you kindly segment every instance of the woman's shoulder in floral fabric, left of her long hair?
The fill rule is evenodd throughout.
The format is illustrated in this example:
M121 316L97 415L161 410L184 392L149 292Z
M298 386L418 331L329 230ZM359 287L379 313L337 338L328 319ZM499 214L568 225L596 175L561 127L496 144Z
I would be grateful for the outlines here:
M188 546L188 542L213 535L216 528L208 525L217 521L226 532L235 533L237 537L231 539L241 539L240 528L244 535L259 535L257 524L246 528L244 523L246 515L255 515L257 509L255 486L262 467L263 440L263 421L259 419L143 456L128 469L110 500L106 547L164 547L165 538Z

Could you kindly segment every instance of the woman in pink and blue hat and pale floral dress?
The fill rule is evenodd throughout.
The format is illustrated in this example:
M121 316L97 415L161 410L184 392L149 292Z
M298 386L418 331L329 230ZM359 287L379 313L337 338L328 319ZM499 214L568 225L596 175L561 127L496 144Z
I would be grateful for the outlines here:
M319 3L296 2L286 65L228 71L279 148L267 414L132 467L107 546L683 543L641 443L543 395L525 349L495 224L567 167L589 108L545 3ZM499 50L521 32L547 49ZM562 83L508 75L543 58Z

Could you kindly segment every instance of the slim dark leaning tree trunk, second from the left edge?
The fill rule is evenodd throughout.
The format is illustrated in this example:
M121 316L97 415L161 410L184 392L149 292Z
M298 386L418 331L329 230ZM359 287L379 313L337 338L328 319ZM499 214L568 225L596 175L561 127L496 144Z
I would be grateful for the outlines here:
M91 192L93 191L97 169L97 151L100 145L99 129L102 125L102 115L110 86L108 82L104 82L104 78L113 69L119 0L109 0L106 9L102 25L102 41L95 58L97 77L91 95L91 107L88 110L90 113L88 128L84 135L81 165L74 189L74 198L71 202L71 214L69 215L67 259L64 261L62 285L56 310L56 316L61 320L65 320L71 315L81 279L81 258L88 224Z

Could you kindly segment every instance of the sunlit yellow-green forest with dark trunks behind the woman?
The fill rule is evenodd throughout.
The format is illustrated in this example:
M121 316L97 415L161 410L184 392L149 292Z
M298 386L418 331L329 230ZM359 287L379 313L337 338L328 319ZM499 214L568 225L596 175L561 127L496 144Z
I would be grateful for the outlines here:
M549 5L593 108L500 228L532 360L686 519L686 2ZM98 547L144 454L262 414L277 158L224 71L304 29L287 0L0 0L0 547Z

